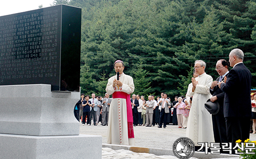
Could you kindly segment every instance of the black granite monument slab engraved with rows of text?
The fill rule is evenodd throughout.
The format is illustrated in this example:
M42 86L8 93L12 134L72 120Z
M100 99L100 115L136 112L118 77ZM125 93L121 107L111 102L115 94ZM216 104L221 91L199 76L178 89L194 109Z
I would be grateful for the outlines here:
M79 91L81 8L58 5L0 17L0 85Z

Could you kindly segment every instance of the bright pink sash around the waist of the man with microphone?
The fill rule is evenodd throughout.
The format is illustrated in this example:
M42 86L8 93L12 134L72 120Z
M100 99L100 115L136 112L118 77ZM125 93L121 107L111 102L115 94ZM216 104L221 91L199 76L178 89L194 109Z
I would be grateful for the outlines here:
M128 138L134 138L134 131L133 131L133 112L132 106L130 101L130 95L125 92L116 91L113 93L114 98L122 98L126 99L126 106L127 106L127 124L128 124Z

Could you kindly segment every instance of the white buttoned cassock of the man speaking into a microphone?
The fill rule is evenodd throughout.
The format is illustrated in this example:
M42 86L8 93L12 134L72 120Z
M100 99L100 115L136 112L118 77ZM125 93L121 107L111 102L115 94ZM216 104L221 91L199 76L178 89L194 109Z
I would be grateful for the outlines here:
M123 85L122 88L119 89L117 86L115 88L113 87L114 79L116 79L116 75L108 79L106 91L109 95L112 95L115 91L122 91L127 94L131 94L134 92L134 83L133 78L131 76L125 75L124 73L120 75L119 81L121 81ZM118 103L120 103L120 109ZM121 120L119 120L119 113L121 114ZM113 98L110 103L107 143L132 146L135 144L134 138L128 138L126 99Z

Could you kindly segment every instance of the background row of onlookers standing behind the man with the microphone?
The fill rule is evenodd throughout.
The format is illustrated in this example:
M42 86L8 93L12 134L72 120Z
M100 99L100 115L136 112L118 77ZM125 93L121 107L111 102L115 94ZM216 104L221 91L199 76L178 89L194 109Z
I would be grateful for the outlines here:
M108 112L112 98L108 93L104 97L81 94L81 99L74 107L74 115L82 125L108 126ZM147 100L147 101L146 101ZM187 128L189 110L192 98L186 99L175 96L173 102L167 94L161 93L160 96L149 95L146 99L143 95L132 95L130 98L133 114L133 126L166 128L167 125L178 125L178 128Z

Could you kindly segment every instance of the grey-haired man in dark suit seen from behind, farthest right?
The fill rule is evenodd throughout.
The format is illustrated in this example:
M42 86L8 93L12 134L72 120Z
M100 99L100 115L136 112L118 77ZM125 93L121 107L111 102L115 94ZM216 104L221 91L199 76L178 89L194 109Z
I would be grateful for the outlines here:
M229 53L229 63L233 67L229 71L226 83L218 86L225 92L224 117L227 127L228 142L235 146L236 140L249 139L251 117L251 80L250 71L243 64L243 51L234 49ZM235 153L232 150L232 153Z

